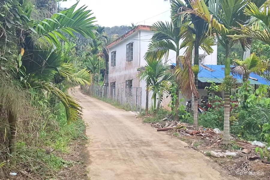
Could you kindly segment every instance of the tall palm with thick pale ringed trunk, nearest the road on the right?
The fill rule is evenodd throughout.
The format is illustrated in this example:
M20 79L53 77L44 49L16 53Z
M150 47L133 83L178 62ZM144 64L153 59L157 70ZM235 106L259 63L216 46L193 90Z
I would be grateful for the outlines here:
M225 76L226 79L230 76L230 49L237 41L233 41L229 35L239 34L232 27L241 27L250 17L243 13L243 10L250 0L209 0L209 7L202 0L189 0L192 9L187 9L186 12L193 13L201 17L209 24L209 31L214 28L219 43L225 48ZM265 1L265 0L264 0ZM256 0L256 4L262 4L263 0ZM210 15L212 14L212 15ZM238 39L245 50L248 47L248 39ZM226 81L231 82L231 81ZM227 85L228 87L230 85ZM224 135L223 144L230 143L229 139L229 90L224 94Z

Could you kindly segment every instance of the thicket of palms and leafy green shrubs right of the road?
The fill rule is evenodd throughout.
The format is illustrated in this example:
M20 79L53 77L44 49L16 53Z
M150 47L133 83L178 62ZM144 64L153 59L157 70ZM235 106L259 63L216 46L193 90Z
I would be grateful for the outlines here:
M153 36L145 57L148 60L151 59L150 62L164 57L166 61L168 49L175 50L176 48L175 51L179 52L179 49L186 48L184 57L176 56L175 67L178 86L176 94L179 88L184 95L190 95L193 92L194 96L193 119L187 117L184 121L192 122L195 128L198 127L198 124L203 127L220 128L224 131L224 145L231 144L230 133L246 140L260 140L261 127L267 127L267 124L264 126L263 124L268 123L266 111L268 110L269 96L267 92L269 86L250 86L249 75L250 73L256 73L267 77L268 74L269 56L263 49L266 50L269 46L269 3L263 0L187 0L185 3L180 0L173 0L171 1L171 7L172 22L154 24L153 30L156 31L157 38ZM170 26L176 28L170 30ZM159 31L158 28L161 29L161 27L163 29ZM179 32L177 32L177 36L174 36L173 32L177 28L179 28ZM165 31L168 31L166 35L164 35ZM178 45L179 41L176 42L175 37L183 39L182 44ZM205 53L209 54L211 53L211 46L215 42L218 42L218 45L225 49L225 54L222 54L222 52L218 54L218 63L225 64L225 78L220 85L214 85L212 82L212 87L207 89L209 90L207 104L211 108L207 107L208 110L199 115L197 122L198 96L196 91L190 91L190 87L191 90L194 90L193 85L195 85L197 89L198 48L204 49ZM239 45L242 48L242 50L239 50L241 53L251 48L253 54L243 59L232 51L232 47L239 47ZM193 53L194 59L191 58ZM183 73L185 67L186 72L190 72L188 71L189 65L185 64L187 59L189 62L194 62L191 73ZM236 82L231 73L242 77L242 85ZM193 78L193 74L195 78ZM185 85L191 81L194 84L186 88ZM213 89L215 89L215 92L225 92L224 101L222 98L213 95ZM230 92L235 89L237 93L230 95ZM171 90L168 91L171 92ZM176 97L173 96L173 93L171 95L172 103L176 99L175 104L178 104L177 95ZM231 104L230 99L236 99L237 103ZM176 106L175 108L179 110L179 107ZM267 132L265 133L266 129L263 129L264 134L267 134Z

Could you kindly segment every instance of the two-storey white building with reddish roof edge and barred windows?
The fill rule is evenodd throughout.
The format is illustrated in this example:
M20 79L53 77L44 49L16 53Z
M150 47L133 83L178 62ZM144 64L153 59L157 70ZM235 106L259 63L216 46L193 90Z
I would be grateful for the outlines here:
M123 103L131 101L133 104L137 104L140 101L140 92L137 91L140 91L138 88L142 87L142 107L145 107L146 82L140 81L137 77L140 73L137 69L146 66L144 55L154 34L150 29L151 26L139 25L107 46L110 52L107 83L110 98L121 99ZM199 49L199 55L202 56L200 63L217 64L217 46L212 46L212 48L214 52L211 55L207 55L202 49ZM180 55L184 55L184 52L185 49L180 49ZM164 62L167 65L171 63L176 63L176 52L174 51L169 52L168 61ZM204 93L204 90L200 91ZM150 107L152 104L152 93L149 94ZM166 108L169 102L170 97L166 98L165 96L161 105ZM182 103L184 104L185 102Z

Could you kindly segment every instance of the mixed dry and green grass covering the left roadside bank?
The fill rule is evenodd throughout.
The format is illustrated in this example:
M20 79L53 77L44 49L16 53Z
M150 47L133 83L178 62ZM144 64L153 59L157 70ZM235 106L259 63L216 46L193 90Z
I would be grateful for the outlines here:
M84 135L85 124L82 119L67 125L65 109L62 104L52 104L49 96L44 94L31 99L34 107L26 117L20 116L17 123L17 169L30 171L32 176L50 179L57 176L57 171L71 167L76 162L64 160L70 153L70 146L75 140L87 139ZM5 127L3 127L3 124ZM7 121L0 119L0 131L7 128ZM7 135L9 137L9 135ZM0 162L8 159L8 138L0 138ZM66 155L64 155L66 154ZM9 174L9 163L0 169L5 176ZM1 163L0 163L1 164ZM1 174L0 174L1 177Z

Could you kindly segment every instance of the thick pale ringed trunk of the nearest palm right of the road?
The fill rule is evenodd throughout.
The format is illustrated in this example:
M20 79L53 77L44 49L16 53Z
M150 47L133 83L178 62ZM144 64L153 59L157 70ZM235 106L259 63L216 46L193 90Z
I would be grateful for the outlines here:
M225 76L230 75L230 45L226 44L226 57L225 57ZM230 92L224 93L224 129L222 144L230 144Z

